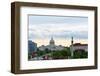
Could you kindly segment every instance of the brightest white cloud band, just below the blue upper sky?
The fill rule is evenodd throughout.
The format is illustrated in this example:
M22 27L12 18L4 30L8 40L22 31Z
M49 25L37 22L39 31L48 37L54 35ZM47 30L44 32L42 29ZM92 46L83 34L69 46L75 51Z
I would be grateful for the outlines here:
M82 24L38 24L29 25L30 31L46 31L46 32L59 32L59 31L87 31L88 26Z

